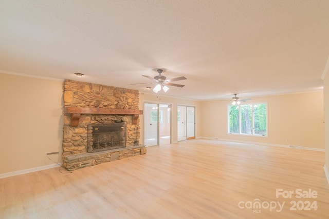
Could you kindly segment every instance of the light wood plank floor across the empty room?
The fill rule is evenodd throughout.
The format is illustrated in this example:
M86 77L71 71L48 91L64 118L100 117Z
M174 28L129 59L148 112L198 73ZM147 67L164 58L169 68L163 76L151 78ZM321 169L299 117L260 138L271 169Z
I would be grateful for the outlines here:
M323 165L319 151L190 140L68 174L0 179L0 218L329 218ZM318 195L277 198L276 189ZM294 201L318 208L290 210ZM283 209L267 208L274 202Z

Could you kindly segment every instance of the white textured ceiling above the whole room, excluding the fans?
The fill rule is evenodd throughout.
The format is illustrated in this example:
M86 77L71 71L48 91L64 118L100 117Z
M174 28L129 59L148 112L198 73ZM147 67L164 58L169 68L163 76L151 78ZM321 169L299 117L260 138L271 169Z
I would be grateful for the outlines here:
M328 55L328 0L0 1L3 73L218 99L322 89Z

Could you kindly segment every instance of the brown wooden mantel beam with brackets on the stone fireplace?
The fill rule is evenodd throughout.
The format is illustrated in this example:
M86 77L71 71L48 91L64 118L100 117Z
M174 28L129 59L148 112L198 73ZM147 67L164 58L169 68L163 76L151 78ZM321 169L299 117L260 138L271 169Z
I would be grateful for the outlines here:
M137 124L138 115L143 114L143 110L136 109L112 109L112 108L86 108L86 107L65 107L64 113L71 113L71 126L78 126L81 114L115 114L132 115L133 124Z

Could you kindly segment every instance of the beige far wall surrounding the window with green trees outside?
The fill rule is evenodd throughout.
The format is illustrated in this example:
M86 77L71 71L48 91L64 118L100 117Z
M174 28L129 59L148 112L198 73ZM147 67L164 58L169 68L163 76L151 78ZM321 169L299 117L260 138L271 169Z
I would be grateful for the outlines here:
M230 101L202 102L200 136L324 149L322 91L253 97L248 103L256 102L268 104L268 137L228 134Z

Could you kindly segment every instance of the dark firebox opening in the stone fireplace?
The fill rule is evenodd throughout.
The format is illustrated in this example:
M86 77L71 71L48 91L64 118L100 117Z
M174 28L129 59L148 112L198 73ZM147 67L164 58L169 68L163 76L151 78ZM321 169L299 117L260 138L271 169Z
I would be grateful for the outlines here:
M124 123L88 125L88 152L97 152L126 147Z

